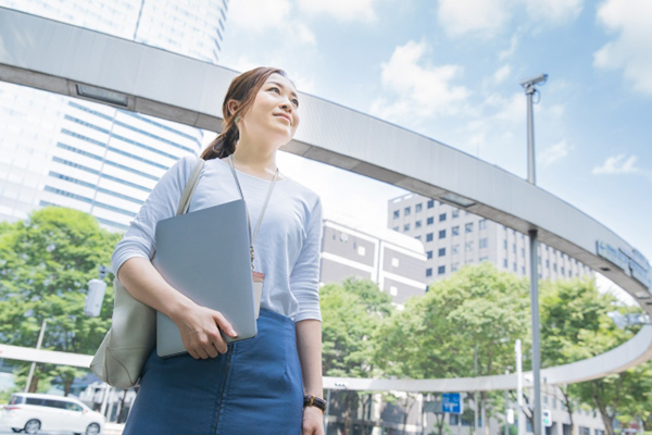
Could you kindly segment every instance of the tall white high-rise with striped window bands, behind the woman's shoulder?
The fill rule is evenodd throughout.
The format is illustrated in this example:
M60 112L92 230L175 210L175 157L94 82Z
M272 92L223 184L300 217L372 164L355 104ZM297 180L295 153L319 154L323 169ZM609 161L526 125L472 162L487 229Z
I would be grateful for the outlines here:
M227 0L0 0L0 7L217 63ZM175 86L171 83L170 86ZM0 220L55 204L124 229L200 129L0 82Z

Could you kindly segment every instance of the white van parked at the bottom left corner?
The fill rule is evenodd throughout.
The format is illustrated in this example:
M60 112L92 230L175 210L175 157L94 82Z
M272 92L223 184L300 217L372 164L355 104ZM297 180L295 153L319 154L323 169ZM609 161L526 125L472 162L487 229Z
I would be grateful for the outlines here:
M67 432L98 435L104 417L72 397L15 393L0 411L0 425L13 432Z

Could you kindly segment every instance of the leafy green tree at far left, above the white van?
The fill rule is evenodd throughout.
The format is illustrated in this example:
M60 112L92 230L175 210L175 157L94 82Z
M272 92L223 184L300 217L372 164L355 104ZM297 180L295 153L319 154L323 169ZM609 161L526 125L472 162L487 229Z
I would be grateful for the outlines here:
M84 314L88 281L109 264L121 235L109 233L87 213L48 207L26 221L0 226L0 337L3 343L35 347L47 321L42 348L91 355L109 328L113 291L98 318ZM112 275L108 277L110 282ZM67 394L85 372L38 364L39 378L58 376Z

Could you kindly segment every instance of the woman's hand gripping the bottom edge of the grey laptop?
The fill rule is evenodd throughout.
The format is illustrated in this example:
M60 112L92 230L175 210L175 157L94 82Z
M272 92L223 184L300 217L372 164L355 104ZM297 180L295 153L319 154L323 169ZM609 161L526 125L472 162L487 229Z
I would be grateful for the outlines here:
M220 311L198 304L179 310L172 320L181 333L184 347L195 359L215 358L218 353L226 353L226 340L221 331L231 338L238 336Z

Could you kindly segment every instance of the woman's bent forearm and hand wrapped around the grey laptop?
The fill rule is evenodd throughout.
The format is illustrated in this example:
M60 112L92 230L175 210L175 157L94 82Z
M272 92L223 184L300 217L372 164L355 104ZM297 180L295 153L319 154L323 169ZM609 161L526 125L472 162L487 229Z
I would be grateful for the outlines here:
M125 261L117 276L134 298L172 319L192 358L214 358L218 352L226 352L226 341L220 330L231 337L236 336L222 313L198 306L176 290L149 260L136 257Z

